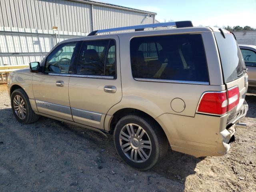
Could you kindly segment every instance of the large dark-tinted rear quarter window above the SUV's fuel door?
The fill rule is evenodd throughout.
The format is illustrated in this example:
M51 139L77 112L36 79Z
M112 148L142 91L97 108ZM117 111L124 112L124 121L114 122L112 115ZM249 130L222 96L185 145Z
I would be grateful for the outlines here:
M209 82L200 34L133 38L130 58L134 78Z

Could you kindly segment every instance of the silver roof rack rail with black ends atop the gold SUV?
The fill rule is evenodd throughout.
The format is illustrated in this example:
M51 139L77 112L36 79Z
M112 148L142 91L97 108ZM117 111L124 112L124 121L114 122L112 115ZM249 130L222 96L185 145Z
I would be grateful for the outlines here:
M132 30L132 29L134 29L135 31L143 31L144 28L156 28L156 27L167 27L167 26L176 26L176 28L182 28L182 27L193 27L193 24L191 21L177 21L177 22L154 23L154 24L146 24L146 25L135 25L135 26L128 26L128 27L96 30L96 31L90 32L87 36L94 36L98 33Z

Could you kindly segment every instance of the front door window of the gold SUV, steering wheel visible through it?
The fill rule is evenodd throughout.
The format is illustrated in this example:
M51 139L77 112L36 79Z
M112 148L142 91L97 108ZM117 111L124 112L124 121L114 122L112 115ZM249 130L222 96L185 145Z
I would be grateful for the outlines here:
M74 60L74 49L77 42L68 42L55 48L46 59L44 72L68 73L69 66Z

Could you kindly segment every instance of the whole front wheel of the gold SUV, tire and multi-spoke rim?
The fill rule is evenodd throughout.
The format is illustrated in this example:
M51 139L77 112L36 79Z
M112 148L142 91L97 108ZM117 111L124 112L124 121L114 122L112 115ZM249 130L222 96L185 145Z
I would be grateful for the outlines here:
M18 122L28 124L36 122L39 118L31 108L28 95L22 89L16 89L11 96L12 112Z

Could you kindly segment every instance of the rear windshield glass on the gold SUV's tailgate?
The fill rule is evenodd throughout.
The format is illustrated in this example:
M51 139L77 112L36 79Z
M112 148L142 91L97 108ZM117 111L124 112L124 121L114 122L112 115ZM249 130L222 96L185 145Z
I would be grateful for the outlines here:
M225 83L234 81L244 74L244 61L236 40L232 34L225 34L223 38L220 32L214 32Z

